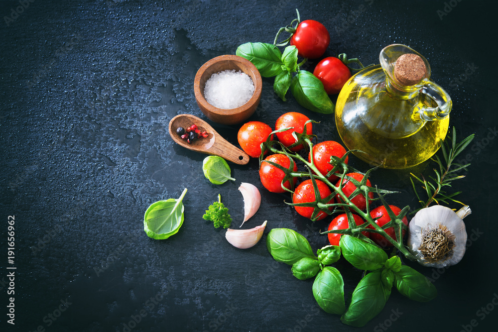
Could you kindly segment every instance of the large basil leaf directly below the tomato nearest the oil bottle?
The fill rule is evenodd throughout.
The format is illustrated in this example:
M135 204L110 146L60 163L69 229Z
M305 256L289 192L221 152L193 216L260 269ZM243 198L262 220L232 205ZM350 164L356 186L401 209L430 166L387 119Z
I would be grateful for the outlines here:
M325 114L334 112L335 106L322 82L310 72L300 70L292 79L290 91L299 105L310 111Z

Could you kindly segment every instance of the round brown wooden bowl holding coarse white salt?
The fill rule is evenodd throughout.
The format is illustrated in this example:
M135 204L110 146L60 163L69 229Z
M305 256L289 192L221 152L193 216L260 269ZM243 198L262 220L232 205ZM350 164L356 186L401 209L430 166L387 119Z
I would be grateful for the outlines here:
M249 75L254 84L252 97L246 104L236 109L223 110L216 108L204 98L206 81L211 75L224 70L240 70ZM237 55L221 55L209 60L199 68L194 79L194 94L197 105L210 120L223 124L236 124L247 120L256 111L261 99L261 86L261 75L249 60Z

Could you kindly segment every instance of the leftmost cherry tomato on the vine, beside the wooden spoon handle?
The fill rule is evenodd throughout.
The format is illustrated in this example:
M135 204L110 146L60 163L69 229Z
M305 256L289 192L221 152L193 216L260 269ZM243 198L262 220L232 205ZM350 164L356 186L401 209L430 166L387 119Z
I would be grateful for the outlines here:
M244 152L257 158L261 154L261 143L266 141L271 132L271 127L266 123L249 121L239 129L237 139ZM271 139L273 139L273 135Z

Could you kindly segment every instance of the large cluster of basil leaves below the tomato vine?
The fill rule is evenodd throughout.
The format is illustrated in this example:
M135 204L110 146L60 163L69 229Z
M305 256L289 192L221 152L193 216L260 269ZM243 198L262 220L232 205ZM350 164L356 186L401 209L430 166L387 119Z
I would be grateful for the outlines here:
M316 257L304 236L288 228L275 228L266 238L266 247L277 261L292 265L292 274L305 280L315 277L313 296L325 312L342 315L344 324L363 327L385 306L392 286L419 302L436 297L434 285L411 267L401 265L398 256L387 258L385 251L363 239L343 234L339 246L327 245ZM358 283L346 310L344 280L332 266L341 252L348 262L367 273Z

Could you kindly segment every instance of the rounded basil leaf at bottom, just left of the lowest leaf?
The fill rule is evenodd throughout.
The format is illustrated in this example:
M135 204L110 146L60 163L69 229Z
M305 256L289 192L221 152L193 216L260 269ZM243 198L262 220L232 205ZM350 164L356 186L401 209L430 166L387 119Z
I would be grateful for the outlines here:
M332 266L324 267L313 283L313 296L325 312L338 315L344 313L344 280L339 270Z

